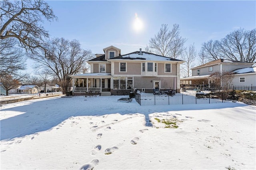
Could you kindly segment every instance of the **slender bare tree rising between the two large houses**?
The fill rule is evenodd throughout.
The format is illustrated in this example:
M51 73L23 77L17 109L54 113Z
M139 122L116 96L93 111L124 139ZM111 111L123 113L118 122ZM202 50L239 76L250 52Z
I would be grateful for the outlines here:
M189 45L184 55L182 55L182 60L185 61L185 63L182 64L181 70L185 76L189 77L191 75L190 69L194 67L193 62L195 61L195 59L196 59L196 49L193 43L192 45Z

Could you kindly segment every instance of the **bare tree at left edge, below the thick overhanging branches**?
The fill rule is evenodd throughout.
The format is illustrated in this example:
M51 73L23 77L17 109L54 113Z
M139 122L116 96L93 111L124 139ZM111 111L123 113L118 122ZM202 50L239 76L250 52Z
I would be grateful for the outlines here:
M19 70L26 69L26 58L23 49L17 47L14 38L0 40L0 74L1 76L13 75Z

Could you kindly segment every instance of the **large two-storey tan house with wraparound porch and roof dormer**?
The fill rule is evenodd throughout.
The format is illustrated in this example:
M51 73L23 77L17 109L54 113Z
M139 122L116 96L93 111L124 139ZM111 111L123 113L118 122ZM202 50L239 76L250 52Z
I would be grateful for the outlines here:
M96 58L87 61L90 73L71 75L74 95L126 95L132 89L146 93L153 93L154 89L180 92L180 64L184 61L141 49L125 55L114 46L103 51L105 54L96 54Z

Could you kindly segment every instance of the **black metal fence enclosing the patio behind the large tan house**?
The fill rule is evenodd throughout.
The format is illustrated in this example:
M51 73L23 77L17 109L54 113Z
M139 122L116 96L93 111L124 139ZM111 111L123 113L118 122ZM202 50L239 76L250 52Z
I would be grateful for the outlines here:
M136 101L142 105L189 105L189 104L206 104L222 103L232 101L229 93L176 93L175 95L153 95L153 94L136 94Z

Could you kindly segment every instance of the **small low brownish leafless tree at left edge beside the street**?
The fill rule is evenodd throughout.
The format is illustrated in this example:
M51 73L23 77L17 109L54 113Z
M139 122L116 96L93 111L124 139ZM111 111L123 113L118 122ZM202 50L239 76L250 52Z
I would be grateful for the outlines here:
M9 95L8 91L13 88L17 88L28 77L27 73L18 73L16 75L4 75L1 76L1 83L6 90L6 96Z

